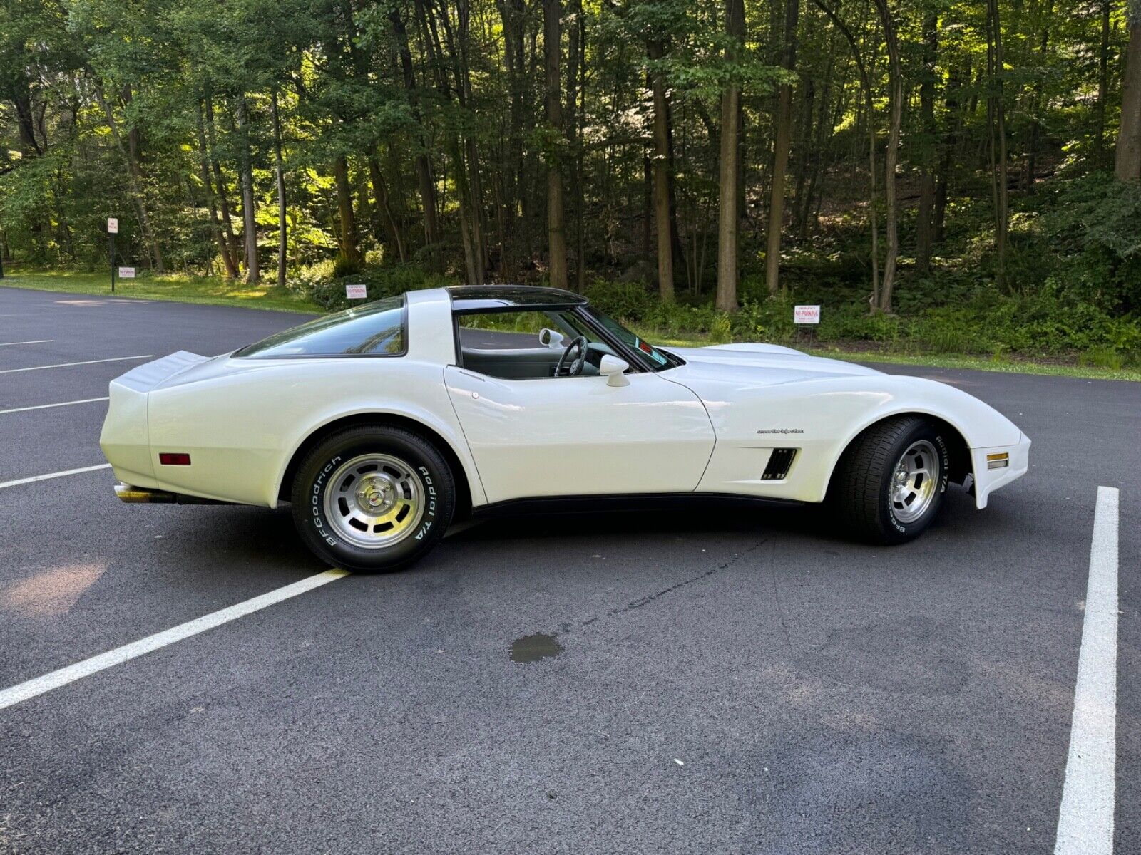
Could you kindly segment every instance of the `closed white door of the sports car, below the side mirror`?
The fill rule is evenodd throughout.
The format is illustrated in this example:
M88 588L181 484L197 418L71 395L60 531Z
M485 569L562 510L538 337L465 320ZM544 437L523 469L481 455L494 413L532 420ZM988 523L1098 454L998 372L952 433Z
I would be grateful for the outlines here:
M688 492L713 451L705 406L653 373L511 380L444 369L488 502Z

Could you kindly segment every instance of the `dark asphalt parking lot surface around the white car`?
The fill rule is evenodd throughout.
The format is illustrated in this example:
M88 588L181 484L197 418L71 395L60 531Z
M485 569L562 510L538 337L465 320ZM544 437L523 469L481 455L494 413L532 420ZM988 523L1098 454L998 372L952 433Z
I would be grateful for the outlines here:
M104 463L112 377L300 320L0 288L0 691L327 569L288 508L33 480ZM1067 759L1110 487L1101 712L1141 853L1141 384L883 368L1002 410L1030 472L890 548L804 510L462 527L0 709L0 852L1053 852L1063 784L1094 809ZM512 661L536 634L556 654Z

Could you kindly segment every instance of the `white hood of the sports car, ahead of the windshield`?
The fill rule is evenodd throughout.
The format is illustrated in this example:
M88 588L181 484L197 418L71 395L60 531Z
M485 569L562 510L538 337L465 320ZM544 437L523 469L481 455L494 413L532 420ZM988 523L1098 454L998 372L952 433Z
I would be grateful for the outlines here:
M705 381L758 386L883 374L855 363L814 357L778 344L717 344L667 350L680 356L686 364L664 376L683 384Z

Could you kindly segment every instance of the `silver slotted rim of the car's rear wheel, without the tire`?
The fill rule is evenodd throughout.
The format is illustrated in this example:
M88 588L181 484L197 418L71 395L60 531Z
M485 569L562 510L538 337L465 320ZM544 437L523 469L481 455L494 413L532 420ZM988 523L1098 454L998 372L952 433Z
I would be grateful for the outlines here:
M424 486L407 463L366 454L329 479L325 519L354 546L383 549L416 530L424 514Z

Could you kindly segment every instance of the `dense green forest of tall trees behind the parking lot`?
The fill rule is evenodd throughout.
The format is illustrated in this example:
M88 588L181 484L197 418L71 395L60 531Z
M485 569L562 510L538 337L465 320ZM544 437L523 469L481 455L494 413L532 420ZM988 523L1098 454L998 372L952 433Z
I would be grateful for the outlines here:
M1141 0L0 0L9 270L1119 364L1139 179Z

